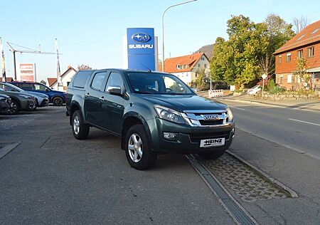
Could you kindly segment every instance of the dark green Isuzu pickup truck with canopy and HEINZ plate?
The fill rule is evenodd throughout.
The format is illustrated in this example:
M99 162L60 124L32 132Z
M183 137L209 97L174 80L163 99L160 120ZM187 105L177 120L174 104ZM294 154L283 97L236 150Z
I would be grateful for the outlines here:
M74 137L87 138L90 127L120 136L136 169L151 167L163 153L216 159L235 136L235 119L227 105L196 95L169 73L80 70L66 98Z

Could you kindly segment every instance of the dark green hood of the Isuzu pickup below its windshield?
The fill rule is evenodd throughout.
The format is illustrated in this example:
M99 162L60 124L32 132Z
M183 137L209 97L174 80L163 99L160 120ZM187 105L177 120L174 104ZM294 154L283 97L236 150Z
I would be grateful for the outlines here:
M171 108L178 112L183 110L225 110L227 105L198 95L142 95L144 100Z

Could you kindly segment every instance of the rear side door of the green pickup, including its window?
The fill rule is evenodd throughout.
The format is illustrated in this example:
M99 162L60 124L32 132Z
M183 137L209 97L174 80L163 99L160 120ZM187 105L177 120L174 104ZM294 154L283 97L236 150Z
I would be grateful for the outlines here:
M103 127L103 88L107 80L107 71L99 71L89 80L85 90L85 117L87 122L97 127Z

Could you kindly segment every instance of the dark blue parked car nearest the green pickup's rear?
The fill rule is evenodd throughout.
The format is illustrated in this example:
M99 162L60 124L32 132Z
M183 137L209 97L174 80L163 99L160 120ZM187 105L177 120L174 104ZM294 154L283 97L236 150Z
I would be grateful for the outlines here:
M53 103L55 106L61 106L63 103L65 103L65 93L63 91L53 90L42 83L15 81L11 82L11 84L16 85L18 88L23 90L46 94L49 96L49 102Z

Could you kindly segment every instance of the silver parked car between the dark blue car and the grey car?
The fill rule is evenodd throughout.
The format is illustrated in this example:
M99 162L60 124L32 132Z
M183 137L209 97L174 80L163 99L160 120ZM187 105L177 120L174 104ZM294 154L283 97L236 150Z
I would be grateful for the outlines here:
M0 82L0 88L6 90L6 91L16 91L21 94L27 94L31 95L34 98L36 98L36 106L37 107L44 107L49 105L49 97L48 95L42 94L42 93L36 93L32 91L22 90L21 88L18 88L15 85L12 85L11 83L4 83Z

